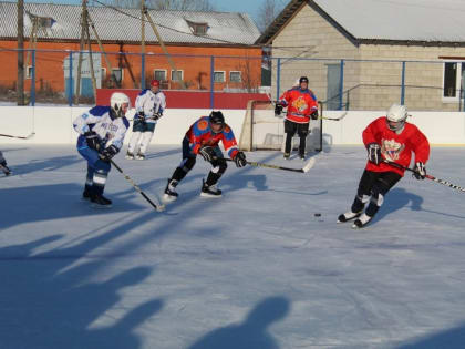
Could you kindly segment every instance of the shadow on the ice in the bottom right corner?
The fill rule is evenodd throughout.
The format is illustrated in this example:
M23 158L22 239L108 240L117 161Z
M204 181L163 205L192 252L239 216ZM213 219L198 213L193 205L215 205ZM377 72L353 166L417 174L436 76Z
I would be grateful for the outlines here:
M465 325L410 341L396 349L463 349L465 346Z

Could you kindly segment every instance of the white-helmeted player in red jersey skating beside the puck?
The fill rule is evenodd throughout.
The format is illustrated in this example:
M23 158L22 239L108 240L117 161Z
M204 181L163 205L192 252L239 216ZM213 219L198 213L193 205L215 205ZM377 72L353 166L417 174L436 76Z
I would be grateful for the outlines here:
M388 162L409 166L412 153L415 158L416 179L424 179L425 164L430 156L426 136L406 122L404 105L393 104L386 116L374 120L363 131L363 143L368 151L368 163L359 183L351 211L338 217L338 223L355 219L353 228L365 226L380 209L384 196L403 177L404 170ZM369 203L365 212L363 208Z

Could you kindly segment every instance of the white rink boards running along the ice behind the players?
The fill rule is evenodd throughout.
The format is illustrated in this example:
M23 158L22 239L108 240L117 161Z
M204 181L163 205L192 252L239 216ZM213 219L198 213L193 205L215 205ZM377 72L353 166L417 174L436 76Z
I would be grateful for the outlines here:
M28 135L30 140L0 137L0 144L74 144L78 134L73 120L89 107L70 106L0 106L0 133ZM179 145L189 125L208 109L167 109L158 122L153 144ZM342 111L326 111L324 116L338 117ZM237 140L240 137L246 110L224 110L227 123ZM385 111L349 111L341 121L323 121L323 146L362 144L362 131ZM416 124L433 145L465 146L465 112L410 111L409 122ZM131 130L126 135L126 142Z

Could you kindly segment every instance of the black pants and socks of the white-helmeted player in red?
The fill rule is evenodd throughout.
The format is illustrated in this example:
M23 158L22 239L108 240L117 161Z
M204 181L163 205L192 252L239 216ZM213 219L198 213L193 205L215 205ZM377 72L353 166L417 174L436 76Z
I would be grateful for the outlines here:
M373 217L384 202L388 192L402 178L395 172L372 172L364 171L360 178L359 189L352 204L352 212L361 212L370 202L365 214Z

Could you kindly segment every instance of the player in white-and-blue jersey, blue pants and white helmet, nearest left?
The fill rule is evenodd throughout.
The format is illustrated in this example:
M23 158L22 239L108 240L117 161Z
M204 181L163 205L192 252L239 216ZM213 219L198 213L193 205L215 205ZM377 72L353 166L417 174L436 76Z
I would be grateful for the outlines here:
M78 116L73 126L80 134L78 152L87 161L87 176L82 194L94 206L111 207L112 201L103 196L106 177L111 170L111 158L123 146L130 123L125 117L130 109L130 97L115 92L110 97L110 106L96 105Z

